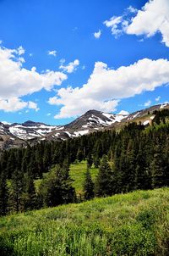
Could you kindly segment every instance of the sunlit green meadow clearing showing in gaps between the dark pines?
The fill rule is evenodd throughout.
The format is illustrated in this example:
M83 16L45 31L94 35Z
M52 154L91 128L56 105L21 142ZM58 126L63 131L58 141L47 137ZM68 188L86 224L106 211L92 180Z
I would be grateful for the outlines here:
M82 161L81 163L71 164L70 165L70 176L74 180L73 186L76 190L77 195L83 194L83 183L85 180L85 172L86 172L87 164L86 161ZM95 181L95 176L98 173L98 169L92 167L90 169L92 180ZM44 173L44 177L47 173ZM35 189L38 190L41 183L41 179L35 180Z

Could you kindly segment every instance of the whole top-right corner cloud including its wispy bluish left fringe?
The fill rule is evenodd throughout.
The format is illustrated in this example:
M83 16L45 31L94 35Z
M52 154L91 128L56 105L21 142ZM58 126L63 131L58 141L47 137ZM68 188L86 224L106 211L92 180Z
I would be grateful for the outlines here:
M112 16L104 24L116 38L123 33L136 36L154 36L160 32L162 42L169 47L169 1L150 0L141 10L129 6L120 16Z

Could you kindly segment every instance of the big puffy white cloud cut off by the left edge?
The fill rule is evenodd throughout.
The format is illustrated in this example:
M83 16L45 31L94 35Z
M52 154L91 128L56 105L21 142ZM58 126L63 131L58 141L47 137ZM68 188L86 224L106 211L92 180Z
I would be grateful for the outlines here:
M20 57L24 54L23 47L8 49L0 47L0 109L18 111L25 108L27 103L20 97L39 92L41 89L51 90L53 86L61 85L67 79L63 72L48 70L41 74L33 67L27 70L23 67L25 59ZM14 105L14 108L11 106Z

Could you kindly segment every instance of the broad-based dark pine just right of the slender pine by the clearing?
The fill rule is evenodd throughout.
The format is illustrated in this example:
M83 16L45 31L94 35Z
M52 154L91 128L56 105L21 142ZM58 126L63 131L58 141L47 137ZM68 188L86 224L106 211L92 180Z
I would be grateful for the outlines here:
M106 155L101 159L99 173L95 180L95 196L106 197L112 195L113 192L113 171L108 164Z

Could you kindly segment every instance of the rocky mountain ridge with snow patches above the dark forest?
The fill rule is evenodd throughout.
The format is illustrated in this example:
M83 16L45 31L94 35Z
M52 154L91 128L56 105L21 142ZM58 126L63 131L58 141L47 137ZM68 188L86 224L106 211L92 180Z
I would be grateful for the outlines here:
M93 131L117 128L130 121L150 125L155 110L169 108L169 104L158 104L132 114L108 114L98 110L89 110L68 125L46 125L41 122L26 121L23 124L0 122L0 148L26 147L43 140L65 140L82 136Z

